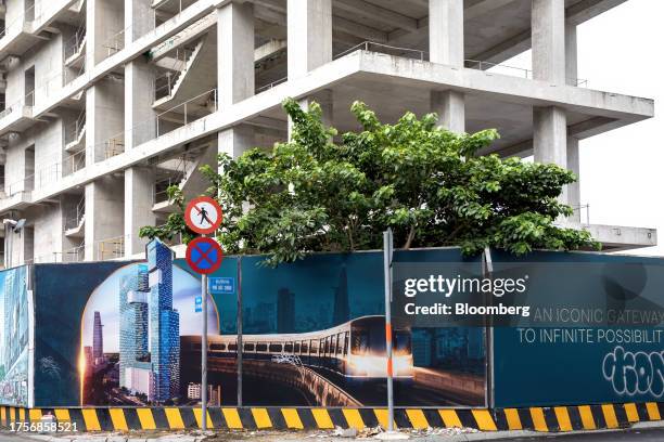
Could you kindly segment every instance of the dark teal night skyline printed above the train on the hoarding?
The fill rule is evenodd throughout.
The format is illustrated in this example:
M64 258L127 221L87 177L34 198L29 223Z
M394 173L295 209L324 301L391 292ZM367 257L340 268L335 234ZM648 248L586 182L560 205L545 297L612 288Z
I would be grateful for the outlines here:
M280 272L256 265L261 257L244 258L244 333L315 332L356 317L384 314L382 253L362 255L361 259L345 255L312 256ZM218 302L221 334L233 334L235 298Z

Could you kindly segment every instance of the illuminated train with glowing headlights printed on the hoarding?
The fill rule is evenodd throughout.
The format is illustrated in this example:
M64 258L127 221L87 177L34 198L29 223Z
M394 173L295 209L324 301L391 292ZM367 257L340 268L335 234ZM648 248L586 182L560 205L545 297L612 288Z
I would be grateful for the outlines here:
M392 330L394 377L410 379L413 376L410 326L393 323ZM207 339L209 358L237 358L234 335L210 335ZM245 361L285 359L297 365L334 372L349 380L384 378L387 374L385 316L362 316L319 332L243 335L242 342ZM200 339L183 342L182 350L200 351Z

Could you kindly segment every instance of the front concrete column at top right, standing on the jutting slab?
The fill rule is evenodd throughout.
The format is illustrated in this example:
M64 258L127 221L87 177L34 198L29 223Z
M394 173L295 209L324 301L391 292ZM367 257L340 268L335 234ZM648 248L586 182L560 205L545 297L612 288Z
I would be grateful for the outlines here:
M565 2L532 0L533 78L565 83Z

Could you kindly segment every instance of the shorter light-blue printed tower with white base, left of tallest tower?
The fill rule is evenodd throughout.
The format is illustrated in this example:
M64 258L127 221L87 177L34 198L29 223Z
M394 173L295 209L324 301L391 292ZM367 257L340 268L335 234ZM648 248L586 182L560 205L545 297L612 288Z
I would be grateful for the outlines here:
M135 272L120 278L119 385L150 398L150 388L144 388L151 385L152 369L148 348L149 292L148 264L137 265ZM142 382L138 380L141 377L144 378Z

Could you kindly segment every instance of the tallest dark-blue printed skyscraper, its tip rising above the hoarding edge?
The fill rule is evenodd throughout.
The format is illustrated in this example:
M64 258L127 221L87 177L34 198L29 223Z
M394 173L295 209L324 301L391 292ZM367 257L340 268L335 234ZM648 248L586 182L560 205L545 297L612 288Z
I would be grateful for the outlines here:
M173 251L158 239L150 242L146 249L152 398L164 402L180 388L180 315L173 308Z

